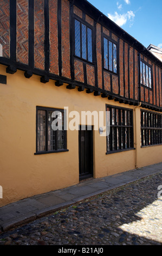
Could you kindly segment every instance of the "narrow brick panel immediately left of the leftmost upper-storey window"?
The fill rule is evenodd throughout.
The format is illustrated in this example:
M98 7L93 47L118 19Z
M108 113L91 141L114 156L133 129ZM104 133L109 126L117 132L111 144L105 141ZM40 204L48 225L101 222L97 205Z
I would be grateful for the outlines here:
M70 75L69 1L62 0L62 76Z

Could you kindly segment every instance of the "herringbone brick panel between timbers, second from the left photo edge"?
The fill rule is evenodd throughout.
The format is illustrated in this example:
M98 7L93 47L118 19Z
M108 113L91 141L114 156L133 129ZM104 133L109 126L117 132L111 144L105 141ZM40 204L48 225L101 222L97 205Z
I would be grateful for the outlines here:
M28 64L28 0L17 0L17 61Z

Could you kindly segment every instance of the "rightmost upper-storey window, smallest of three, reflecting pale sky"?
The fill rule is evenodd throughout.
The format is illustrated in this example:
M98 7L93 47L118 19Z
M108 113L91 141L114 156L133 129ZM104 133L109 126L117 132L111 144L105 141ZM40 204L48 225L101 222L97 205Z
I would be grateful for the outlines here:
M152 69L144 62L140 61L140 81L143 86L152 88Z

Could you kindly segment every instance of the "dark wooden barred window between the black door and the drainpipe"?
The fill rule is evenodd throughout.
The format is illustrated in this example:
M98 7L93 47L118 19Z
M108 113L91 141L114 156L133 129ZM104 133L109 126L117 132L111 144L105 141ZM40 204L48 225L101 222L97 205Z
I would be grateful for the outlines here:
M109 134L107 136L107 154L133 149L133 111L107 105L109 112Z

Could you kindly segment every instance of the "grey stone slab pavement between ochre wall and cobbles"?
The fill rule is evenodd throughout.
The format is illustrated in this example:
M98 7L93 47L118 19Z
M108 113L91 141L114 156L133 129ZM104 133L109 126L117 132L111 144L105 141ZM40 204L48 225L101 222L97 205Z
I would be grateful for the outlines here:
M24 223L57 209L96 196L102 192L126 185L162 170L162 162L111 176L89 179L77 185L25 198L0 208L0 230L7 230L17 223Z

